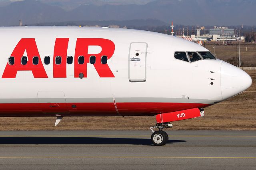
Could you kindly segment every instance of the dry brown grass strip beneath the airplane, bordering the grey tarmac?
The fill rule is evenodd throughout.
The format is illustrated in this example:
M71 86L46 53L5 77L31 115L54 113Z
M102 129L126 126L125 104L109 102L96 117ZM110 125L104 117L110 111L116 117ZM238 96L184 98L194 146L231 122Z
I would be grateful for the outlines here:
M256 130L256 70L252 86L236 97L205 108L205 117L173 122L171 130ZM0 130L149 130L155 117L1 117Z

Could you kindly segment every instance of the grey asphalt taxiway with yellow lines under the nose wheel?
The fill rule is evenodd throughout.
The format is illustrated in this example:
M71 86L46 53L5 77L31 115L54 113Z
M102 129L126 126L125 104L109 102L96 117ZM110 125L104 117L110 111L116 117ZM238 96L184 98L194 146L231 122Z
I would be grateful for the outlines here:
M256 169L256 131L1 131L0 169Z

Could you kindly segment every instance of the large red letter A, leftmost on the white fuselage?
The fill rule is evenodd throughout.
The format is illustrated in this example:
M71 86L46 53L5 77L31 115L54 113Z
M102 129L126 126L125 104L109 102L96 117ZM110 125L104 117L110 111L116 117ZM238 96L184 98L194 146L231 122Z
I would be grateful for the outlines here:
M26 65L22 65L21 58L25 50L28 55L28 62ZM2 78L15 78L18 71L32 71L34 78L48 78L34 38L22 38L12 51L11 56L15 58L14 65L9 65L7 62ZM34 56L39 58L37 65L33 65Z

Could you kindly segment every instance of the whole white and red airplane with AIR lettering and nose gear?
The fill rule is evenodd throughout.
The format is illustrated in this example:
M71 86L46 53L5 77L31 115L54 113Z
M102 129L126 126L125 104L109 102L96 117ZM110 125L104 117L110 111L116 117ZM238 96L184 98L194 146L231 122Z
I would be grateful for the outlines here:
M156 116L151 141L171 122L252 84L242 69L194 42L129 29L0 28L0 117ZM158 129L154 131L153 129Z

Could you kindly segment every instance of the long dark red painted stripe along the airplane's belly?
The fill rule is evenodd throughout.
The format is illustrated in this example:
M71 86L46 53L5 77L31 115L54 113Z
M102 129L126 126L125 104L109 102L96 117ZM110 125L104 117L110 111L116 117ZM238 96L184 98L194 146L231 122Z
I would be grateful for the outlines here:
M1 103L0 117L55 116L58 113L65 116L118 116L114 103L58 103L61 107L50 107L52 104L55 103ZM72 105L76 105L76 108L72 108ZM122 116L153 116L161 112L178 111L180 108L209 106L200 103L116 103L116 105L119 115ZM69 113L63 113L66 111L62 106L67 106Z

